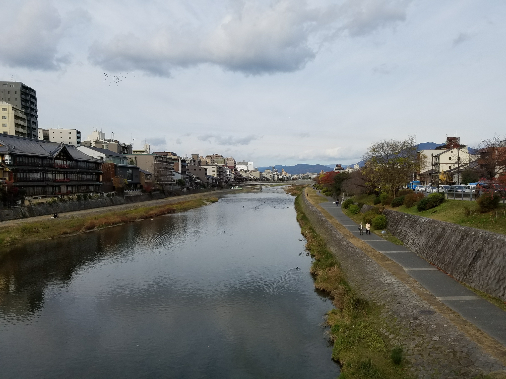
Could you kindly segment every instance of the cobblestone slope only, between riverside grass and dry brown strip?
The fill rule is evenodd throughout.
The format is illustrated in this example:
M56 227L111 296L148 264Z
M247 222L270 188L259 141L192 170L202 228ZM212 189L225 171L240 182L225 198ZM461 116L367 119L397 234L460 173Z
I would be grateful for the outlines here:
M313 227L339 259L347 279L367 300L382 307L382 333L401 345L418 378L471 378L506 371L501 361L468 338L447 317L341 234L303 197Z

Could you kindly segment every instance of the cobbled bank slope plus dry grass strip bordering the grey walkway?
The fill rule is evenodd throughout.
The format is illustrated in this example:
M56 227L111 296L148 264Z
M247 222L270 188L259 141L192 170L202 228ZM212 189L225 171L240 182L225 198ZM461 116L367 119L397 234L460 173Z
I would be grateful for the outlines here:
M321 198L312 189L306 192L310 197L304 197L304 212L350 284L383 307L382 333L404 347L416 377L470 378L506 370L506 350L500 344L447 309L397 263L354 237L318 205Z

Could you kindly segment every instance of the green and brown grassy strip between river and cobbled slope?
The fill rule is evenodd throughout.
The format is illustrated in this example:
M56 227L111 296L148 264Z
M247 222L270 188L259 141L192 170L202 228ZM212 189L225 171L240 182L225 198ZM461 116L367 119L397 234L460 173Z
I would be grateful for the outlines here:
M326 322L334 343L332 359L342 366L340 378L409 377L402 350L389 346L381 337L379 306L368 303L351 288L339 262L304 214L301 201L300 196L295 201L297 221L307 241L306 249L315 259L311 266L315 288L328 293L336 307L328 312Z

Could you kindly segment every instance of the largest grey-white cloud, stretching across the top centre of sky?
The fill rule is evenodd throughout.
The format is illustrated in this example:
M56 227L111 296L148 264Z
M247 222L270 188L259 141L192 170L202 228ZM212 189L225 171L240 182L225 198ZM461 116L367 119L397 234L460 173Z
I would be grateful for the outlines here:
M312 61L325 41L364 35L405 20L409 3L345 0L339 7L320 8L310 8L303 0L238 4L200 28L171 24L151 35L124 33L96 41L89 59L111 71L137 69L159 76L205 63L244 74L292 72Z

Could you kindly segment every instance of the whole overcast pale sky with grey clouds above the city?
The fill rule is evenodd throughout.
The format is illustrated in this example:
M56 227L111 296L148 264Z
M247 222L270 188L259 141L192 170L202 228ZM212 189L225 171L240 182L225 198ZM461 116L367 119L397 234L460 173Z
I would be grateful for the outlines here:
M39 127L255 166L506 133L506 2L11 1L0 80ZM142 142L142 144L141 144Z

